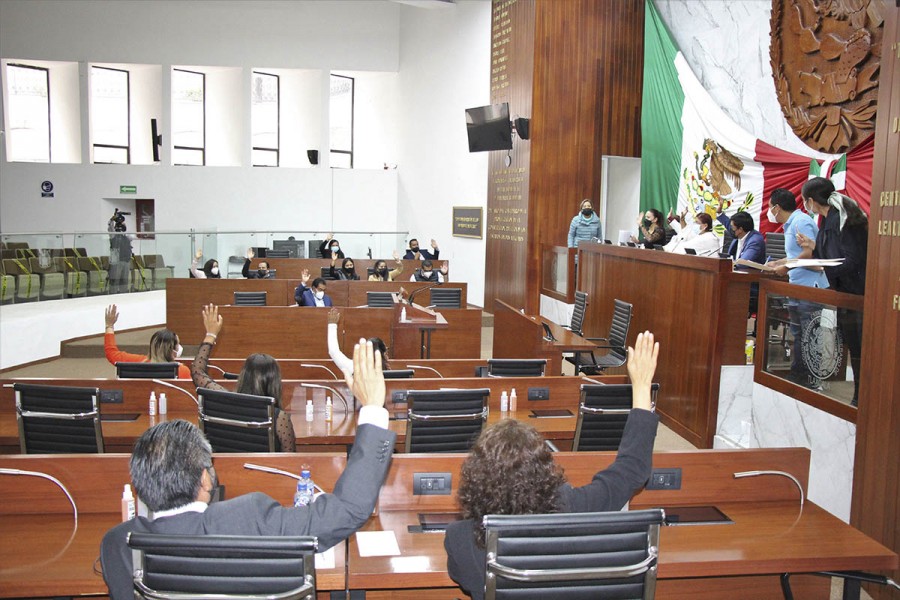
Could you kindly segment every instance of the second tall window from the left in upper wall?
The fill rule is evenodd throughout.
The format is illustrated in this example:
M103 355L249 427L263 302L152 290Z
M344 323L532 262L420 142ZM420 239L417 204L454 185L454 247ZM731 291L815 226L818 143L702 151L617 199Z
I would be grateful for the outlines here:
M95 163L131 162L128 71L91 67L91 140Z

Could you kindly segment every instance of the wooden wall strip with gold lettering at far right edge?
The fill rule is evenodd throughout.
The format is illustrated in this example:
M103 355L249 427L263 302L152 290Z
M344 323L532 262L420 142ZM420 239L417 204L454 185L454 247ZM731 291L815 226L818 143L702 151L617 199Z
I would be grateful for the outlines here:
M900 4L877 1L885 18L884 43L850 521L896 552L900 548ZM900 571L891 576L900 579ZM900 599L896 590L867 589L875 598Z

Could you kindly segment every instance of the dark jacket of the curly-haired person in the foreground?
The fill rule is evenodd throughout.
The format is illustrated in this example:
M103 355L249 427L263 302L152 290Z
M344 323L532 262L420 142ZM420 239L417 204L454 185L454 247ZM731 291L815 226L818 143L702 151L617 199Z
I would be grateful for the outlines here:
M587 485L562 485L557 500L559 512L597 512L625 506L650 478L658 423L655 413L632 410L616 461ZM485 551L475 545L475 523L471 519L451 523L444 549L450 578L474 600L484 598Z

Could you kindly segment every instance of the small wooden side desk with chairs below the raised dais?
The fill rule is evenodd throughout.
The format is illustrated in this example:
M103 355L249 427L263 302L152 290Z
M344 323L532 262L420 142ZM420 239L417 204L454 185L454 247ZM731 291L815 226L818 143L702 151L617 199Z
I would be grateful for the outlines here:
M546 323L554 341L544 338ZM526 315L502 300L494 300L494 358L546 358L547 373L562 374L562 353L591 351L596 346L568 329L539 318Z

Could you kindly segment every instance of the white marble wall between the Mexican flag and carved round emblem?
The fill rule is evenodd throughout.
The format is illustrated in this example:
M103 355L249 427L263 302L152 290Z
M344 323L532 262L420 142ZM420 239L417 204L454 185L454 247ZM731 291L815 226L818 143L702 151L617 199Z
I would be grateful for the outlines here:
M769 64L771 0L654 4L694 74L735 123L773 146L817 154L791 131L775 96Z

